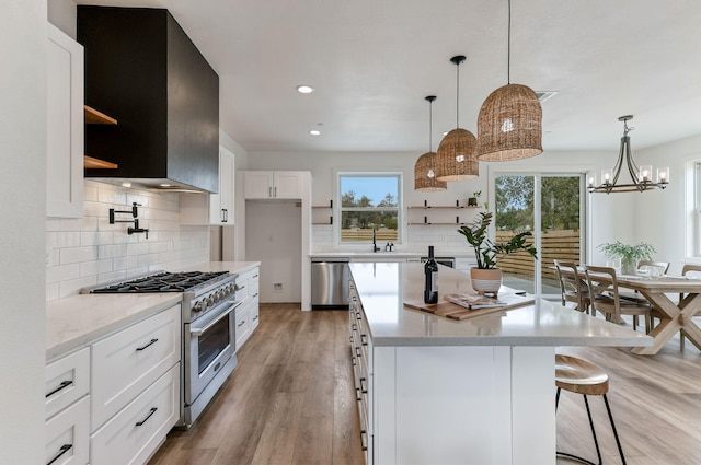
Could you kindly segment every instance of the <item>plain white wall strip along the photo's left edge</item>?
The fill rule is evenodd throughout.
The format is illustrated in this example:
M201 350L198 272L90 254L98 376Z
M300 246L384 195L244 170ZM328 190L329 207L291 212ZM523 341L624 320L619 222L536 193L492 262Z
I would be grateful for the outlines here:
M0 462L44 463L46 1L0 15Z

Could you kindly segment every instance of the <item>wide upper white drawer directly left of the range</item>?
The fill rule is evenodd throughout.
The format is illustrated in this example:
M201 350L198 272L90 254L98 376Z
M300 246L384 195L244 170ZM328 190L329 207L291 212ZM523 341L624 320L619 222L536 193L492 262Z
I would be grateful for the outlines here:
M91 431L180 360L180 305L92 346Z

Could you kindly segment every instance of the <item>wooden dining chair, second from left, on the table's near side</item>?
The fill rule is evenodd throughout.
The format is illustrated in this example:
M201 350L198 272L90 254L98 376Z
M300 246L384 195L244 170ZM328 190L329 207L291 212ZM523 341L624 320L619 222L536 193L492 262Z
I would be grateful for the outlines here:
M605 315L606 319L620 324L621 315L633 316L633 330L637 329L637 316L645 317L645 333L651 330L651 306L648 303L622 300L619 295L616 270L609 267L586 266L585 275L591 297L591 307ZM597 281L596 274L607 275L605 281Z

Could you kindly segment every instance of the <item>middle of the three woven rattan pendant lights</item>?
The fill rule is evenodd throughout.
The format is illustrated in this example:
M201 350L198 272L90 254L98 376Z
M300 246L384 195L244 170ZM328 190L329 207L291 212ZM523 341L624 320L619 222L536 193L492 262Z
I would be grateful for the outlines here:
M463 181L478 177L480 164L478 163L478 140L472 132L460 128L458 115L460 106L460 63L466 59L458 55L450 58L457 69L456 92L456 126L443 138L438 146L436 177L438 181Z

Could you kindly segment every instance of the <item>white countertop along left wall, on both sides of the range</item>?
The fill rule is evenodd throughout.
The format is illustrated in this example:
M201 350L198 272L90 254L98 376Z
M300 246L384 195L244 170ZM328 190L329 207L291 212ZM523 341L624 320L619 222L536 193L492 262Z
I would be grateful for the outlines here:
M244 272L260 261L210 261L169 271ZM181 293L80 294L46 303L46 360L180 304Z

